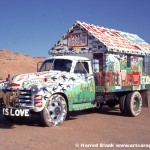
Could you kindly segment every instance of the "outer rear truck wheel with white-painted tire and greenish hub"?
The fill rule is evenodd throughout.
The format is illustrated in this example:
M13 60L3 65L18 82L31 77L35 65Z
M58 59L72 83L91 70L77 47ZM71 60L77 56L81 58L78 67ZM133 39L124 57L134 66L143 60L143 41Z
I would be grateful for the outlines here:
M142 97L137 91L131 92L126 98L126 108L129 116L138 116L142 109Z

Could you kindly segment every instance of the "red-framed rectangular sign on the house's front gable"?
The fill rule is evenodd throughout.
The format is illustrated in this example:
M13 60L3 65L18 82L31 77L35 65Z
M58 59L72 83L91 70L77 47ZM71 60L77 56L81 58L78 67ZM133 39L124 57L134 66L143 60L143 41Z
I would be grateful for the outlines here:
M68 35L68 47L84 47L88 45L88 34L86 32Z

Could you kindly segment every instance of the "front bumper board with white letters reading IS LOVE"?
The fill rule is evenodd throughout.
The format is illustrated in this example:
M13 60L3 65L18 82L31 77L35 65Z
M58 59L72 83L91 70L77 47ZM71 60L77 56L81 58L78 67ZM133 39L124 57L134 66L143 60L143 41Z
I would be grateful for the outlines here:
M29 117L29 109L3 108L3 115L14 117Z

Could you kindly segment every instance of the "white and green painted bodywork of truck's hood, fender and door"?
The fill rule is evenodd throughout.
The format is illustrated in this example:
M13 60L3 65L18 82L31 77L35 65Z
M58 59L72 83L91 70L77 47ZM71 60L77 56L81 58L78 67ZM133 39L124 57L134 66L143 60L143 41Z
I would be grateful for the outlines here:
M47 60L50 62L53 60L54 66L55 63L57 64L58 62L57 59L54 60L53 58ZM49 63L47 60L45 63ZM90 61L85 58L82 60L81 57L61 57L61 60L64 60L63 62L65 62L65 60L70 60L69 62L72 62L72 71L50 70L17 75L12 81L10 81L10 84L8 84L6 87L3 87L3 90L18 91L19 89L20 91L23 91L21 97L24 97L23 95L26 93L26 91L31 91L32 99L34 99L34 95L36 95L34 99L35 104L39 103L39 101L36 100L37 98L40 98L40 103L42 102L42 104L44 104L51 95L55 93L62 93L66 95L68 99L69 110L73 109L73 104L92 102L95 99L95 81L94 76L91 74ZM81 64L81 62L79 63L79 61L86 63L88 72L90 71L89 75L83 72L85 69L81 68L83 64ZM81 66L78 69L79 64ZM25 94L25 98L26 95L27 94ZM27 103L22 102L20 106L28 105ZM35 109L36 111L39 111L43 107L44 105L40 105L40 107Z

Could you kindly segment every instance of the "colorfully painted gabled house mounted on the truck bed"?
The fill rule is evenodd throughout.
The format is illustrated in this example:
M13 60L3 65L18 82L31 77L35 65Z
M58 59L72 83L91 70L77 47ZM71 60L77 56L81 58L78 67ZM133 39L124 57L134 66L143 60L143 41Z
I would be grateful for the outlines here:
M97 93L150 89L150 44L136 34L77 21L49 54L90 58Z

